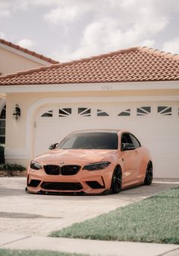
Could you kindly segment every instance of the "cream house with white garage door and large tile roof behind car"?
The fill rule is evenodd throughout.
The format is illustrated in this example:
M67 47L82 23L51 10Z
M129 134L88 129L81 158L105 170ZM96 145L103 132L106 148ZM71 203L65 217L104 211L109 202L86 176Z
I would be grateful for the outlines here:
M119 50L5 75L0 93L7 101L6 162L27 165L74 130L125 128L150 149L155 178L179 178L177 55Z

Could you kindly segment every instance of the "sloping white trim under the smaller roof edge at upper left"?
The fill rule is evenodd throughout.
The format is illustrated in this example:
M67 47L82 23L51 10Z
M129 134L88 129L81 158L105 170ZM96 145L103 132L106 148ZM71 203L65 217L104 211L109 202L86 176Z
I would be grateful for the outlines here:
M39 58L36 57L36 56L30 55L30 53L24 53L24 52L21 51L21 50L14 49L12 46L8 46L8 45L6 45L6 44L4 44L4 43L0 43L0 47L1 47L2 49L5 49L5 50L10 51L11 53L17 54L17 55L19 55L19 56L23 56L23 57L26 58L26 59L30 59L30 60L32 60L32 61L34 61L34 62L38 62L39 64L42 64L42 65L45 65L45 66L52 65L51 62L48 62L48 61L43 60L43 59L39 59Z

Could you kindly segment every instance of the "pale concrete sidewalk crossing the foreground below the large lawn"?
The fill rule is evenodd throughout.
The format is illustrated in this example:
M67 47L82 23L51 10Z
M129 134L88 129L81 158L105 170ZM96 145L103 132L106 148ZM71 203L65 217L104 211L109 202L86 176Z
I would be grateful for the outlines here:
M178 256L179 245L51 238L0 232L0 248L62 251L98 256Z

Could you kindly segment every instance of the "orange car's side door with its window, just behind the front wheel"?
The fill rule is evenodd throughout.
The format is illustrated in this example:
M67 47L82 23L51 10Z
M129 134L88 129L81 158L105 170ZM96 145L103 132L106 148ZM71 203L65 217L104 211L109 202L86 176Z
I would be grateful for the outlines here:
M121 135L121 154L123 159L123 183L130 185L138 182L139 176L139 152L137 143L134 143L133 135L123 133ZM124 143L130 143L133 149L123 151ZM134 143L134 144L133 144Z

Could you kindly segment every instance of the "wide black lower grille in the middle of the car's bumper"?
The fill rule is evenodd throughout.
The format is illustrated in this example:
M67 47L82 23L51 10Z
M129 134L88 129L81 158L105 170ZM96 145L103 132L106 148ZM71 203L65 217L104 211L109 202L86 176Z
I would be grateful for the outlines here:
M81 190L83 187L79 182L48 182L44 181L41 187L46 190Z

